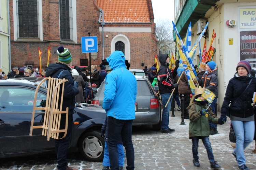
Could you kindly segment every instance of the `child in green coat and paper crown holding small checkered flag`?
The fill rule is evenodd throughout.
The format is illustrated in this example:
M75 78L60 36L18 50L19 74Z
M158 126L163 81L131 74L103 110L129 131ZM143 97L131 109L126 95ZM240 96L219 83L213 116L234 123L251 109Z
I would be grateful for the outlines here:
M212 169L219 169L221 166L216 164L212 153L211 143L209 141L210 126L209 121L215 124L224 124L226 120L218 119L212 112L211 107L208 107L208 102L201 97L204 88L195 89L195 99L191 105L189 105L189 139L192 139L192 153L193 164L199 167L198 162L198 141L202 140L205 149L207 150L208 158L210 160Z

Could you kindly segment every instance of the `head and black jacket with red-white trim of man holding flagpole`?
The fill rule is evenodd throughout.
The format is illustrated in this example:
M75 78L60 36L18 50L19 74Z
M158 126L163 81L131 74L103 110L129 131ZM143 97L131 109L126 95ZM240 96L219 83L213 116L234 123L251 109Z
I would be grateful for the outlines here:
M166 63L167 57L168 54L161 54L158 57L158 60L161 64L157 74L157 83L160 94L169 93L173 90L173 77L171 70L168 67L169 64Z

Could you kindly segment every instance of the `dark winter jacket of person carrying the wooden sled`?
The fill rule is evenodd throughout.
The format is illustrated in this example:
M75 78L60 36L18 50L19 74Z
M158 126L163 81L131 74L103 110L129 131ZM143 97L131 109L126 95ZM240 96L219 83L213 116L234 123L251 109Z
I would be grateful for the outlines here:
M68 80L65 82L64 92L63 92L63 103L62 110L66 110L66 107L69 108L69 115L74 113L75 108L75 95L79 94L79 90L74 86L73 77L71 74L70 67L62 62L56 62L56 64L49 64L46 69L46 77L58 78L59 73L64 70L59 79ZM60 103L60 102L59 102Z

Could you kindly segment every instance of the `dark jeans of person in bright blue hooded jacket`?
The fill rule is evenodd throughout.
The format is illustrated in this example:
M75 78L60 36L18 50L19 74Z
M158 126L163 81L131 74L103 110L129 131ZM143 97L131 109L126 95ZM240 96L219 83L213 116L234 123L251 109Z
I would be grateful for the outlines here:
M118 170L118 134L121 134L123 145L126 151L127 167L126 169L134 169L134 148L131 140L133 120L119 120L108 117L108 145L109 160L111 170Z

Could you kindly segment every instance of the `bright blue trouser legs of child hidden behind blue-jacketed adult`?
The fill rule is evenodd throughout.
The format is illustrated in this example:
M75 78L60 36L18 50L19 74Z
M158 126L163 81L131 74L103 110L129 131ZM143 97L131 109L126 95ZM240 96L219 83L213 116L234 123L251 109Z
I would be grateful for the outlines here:
M119 166L123 167L125 165L125 152L124 152L122 144L119 143L117 145L117 151L118 151ZM104 158L103 158L102 166L110 167L109 145L108 145L108 142L106 142L106 141L105 141Z

